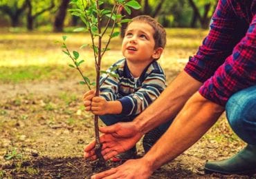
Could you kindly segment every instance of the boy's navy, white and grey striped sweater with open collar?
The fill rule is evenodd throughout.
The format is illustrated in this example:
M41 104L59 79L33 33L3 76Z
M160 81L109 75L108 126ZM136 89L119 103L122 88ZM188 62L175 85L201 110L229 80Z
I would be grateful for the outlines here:
M100 78L100 96L107 101L120 101L122 113L126 116L137 115L143 112L166 87L165 73L161 66L153 61L136 80L129 72L126 60L122 59L109 67L117 67L111 73L117 77L103 74Z

